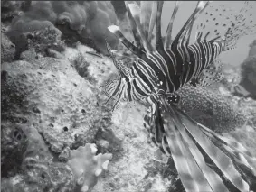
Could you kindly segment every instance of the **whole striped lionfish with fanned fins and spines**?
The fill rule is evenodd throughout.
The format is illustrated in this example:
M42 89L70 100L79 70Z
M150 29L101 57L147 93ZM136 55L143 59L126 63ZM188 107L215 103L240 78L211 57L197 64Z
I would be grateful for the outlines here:
M224 180L240 191L250 191L251 180L256 181L256 171L251 166L255 158L242 144L214 133L180 110L176 105L180 96L175 91L186 84L207 86L218 79L213 72L220 67L216 65L218 56L223 51L234 49L243 35L255 32L255 24L252 20L245 23L248 18L244 16L250 13L252 5L245 2L240 12L224 19L221 16L222 21L218 23L213 13L207 12L206 7L214 9L209 6L211 3L200 1L173 37L173 25L180 5L176 2L164 39L161 35L163 4L163 1L141 1L139 5L126 2L134 42L128 41L119 26L109 26L109 31L136 58L130 66L125 65L106 42L119 75L110 78L102 86L103 90L109 99L115 100L113 109L121 101L147 101L150 107L144 126L156 146L174 160L186 191L229 191ZM220 8L225 11L225 7ZM208 19L207 14L210 15ZM192 28L200 15L204 15L205 21L197 25L195 40L190 43ZM223 25L223 36L217 30L205 32L209 19L216 22L216 26ZM154 28L155 44L151 43Z

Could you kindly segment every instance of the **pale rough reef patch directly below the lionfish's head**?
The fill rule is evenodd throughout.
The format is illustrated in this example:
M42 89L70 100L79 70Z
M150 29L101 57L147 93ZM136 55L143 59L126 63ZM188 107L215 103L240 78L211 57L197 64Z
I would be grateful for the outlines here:
M119 110L113 113L113 124L102 131L107 144L101 150L107 148L113 152L113 159L109 164L108 177L100 178L92 192L166 191L173 180L163 177L167 158L157 151L143 128L143 115L147 108L138 104L128 110L126 121L119 118L119 114L127 110L127 107L120 105ZM111 132L116 137L114 143L122 141L121 145L113 145L113 139L107 136ZM98 141L102 146L102 137Z

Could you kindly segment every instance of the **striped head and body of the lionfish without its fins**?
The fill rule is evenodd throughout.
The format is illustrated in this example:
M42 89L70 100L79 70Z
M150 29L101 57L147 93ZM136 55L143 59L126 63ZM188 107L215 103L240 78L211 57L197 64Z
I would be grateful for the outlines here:
M152 95L174 94L193 78L198 78L223 47L222 41L198 41L189 45L187 52L180 51L185 48L178 46L172 50L155 50L144 59L135 60L131 68L126 69L127 76L119 75L110 81L106 94L129 102Z

